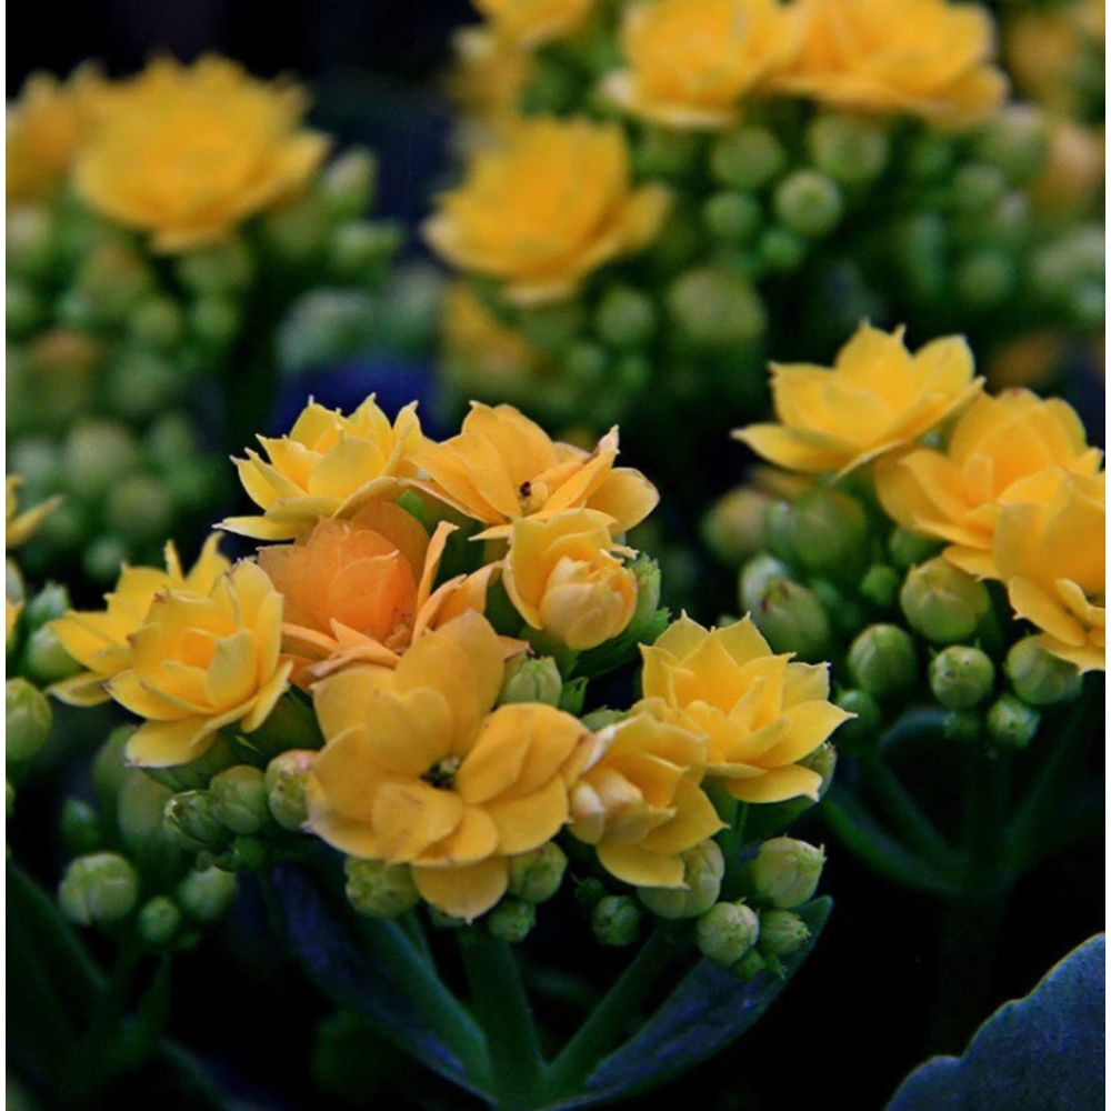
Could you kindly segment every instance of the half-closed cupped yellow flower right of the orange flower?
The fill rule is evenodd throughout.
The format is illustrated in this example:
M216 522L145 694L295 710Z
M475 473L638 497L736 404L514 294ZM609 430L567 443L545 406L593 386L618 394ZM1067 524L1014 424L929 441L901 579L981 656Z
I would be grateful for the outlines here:
M584 652L620 635L637 612L637 579L610 518L589 509L513 526L506 590L533 629Z

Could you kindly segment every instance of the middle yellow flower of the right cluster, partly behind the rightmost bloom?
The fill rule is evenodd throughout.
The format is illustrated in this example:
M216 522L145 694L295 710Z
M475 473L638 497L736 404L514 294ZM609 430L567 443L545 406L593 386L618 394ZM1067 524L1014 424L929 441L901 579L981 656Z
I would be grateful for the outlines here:
M1047 469L1098 474L1103 452L1065 401L1027 390L980 398L953 429L947 451L921 448L881 466L883 508L904 529L950 548L949 561L994 579L1001 502L1017 483Z

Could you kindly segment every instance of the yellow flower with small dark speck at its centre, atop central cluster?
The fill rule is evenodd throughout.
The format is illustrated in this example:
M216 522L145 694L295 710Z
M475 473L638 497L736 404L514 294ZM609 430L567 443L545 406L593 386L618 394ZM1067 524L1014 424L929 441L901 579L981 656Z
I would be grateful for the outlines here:
M640 524L660 496L640 471L614 467L617 430L592 451L553 442L510 406L473 404L462 433L414 452L427 493L489 526L483 539L506 539L513 521L547 520L569 509L593 509L614 533Z

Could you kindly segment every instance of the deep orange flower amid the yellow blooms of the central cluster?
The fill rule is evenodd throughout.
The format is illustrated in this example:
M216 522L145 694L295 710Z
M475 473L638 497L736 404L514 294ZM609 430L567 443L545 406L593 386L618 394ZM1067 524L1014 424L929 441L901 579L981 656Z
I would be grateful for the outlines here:
M351 521L326 519L296 544L263 548L259 565L286 599L294 682L353 663L397 667L426 632L468 610L483 612L497 564L433 590L453 531L443 523L429 541L404 510L371 502Z

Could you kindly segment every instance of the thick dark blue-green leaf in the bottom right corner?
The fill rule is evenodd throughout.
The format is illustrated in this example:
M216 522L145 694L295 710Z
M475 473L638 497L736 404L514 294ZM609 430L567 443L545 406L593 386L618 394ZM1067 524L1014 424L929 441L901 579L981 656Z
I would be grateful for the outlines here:
M920 1069L888 1111L1093 1111L1107 1107L1107 938L1004 1007L963 1060Z

